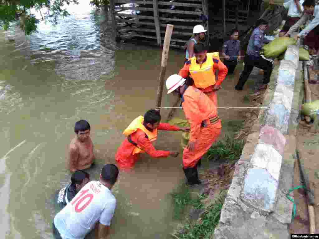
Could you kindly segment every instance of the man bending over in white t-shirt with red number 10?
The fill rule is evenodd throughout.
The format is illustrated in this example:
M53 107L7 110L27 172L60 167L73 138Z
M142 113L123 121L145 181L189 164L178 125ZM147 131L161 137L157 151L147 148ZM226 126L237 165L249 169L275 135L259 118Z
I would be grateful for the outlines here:
M53 220L56 239L84 239L96 228L97 238L109 233L116 199L111 189L119 174L114 164L103 166L99 181L87 183Z

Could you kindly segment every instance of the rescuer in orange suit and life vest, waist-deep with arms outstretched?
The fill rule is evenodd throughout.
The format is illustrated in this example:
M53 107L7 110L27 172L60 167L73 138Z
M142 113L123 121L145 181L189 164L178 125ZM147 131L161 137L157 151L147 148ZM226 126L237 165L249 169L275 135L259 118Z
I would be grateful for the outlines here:
M122 170L134 167L139 159L139 154L147 153L153 158L157 157L177 157L179 152L156 150L152 143L157 139L158 130L189 131L189 128L180 128L167 123L160 123L161 115L159 111L149 110L144 117L139 116L133 120L124 130L123 134L127 138L122 142L115 154L115 161Z

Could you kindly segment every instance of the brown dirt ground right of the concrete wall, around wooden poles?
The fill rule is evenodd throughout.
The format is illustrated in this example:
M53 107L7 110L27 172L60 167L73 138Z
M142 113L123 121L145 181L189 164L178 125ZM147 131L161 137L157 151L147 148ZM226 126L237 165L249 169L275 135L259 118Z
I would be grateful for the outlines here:
M314 72L310 71L310 79L314 77ZM319 99L319 84L309 84L311 90L311 100ZM305 171L309 176L310 188L315 193L315 223L316 233L319 233L319 133L313 134L310 130L311 125L300 120L297 133L297 149L305 161ZM316 176L317 174L317 176ZM300 180L298 162L294 164L294 187L302 185ZM296 203L296 216L293 223L290 224L290 233L309 233L309 216L307 197L305 191L298 189L294 191L294 200Z

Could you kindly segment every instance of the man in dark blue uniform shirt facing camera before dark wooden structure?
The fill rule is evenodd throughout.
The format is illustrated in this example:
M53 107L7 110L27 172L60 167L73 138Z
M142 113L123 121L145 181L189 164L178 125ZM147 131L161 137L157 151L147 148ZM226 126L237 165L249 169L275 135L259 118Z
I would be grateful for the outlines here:
M226 41L223 46L222 55L225 57L224 64L229 74L233 74L237 65L237 61L241 60L240 41L238 40L238 30L231 31L230 40Z

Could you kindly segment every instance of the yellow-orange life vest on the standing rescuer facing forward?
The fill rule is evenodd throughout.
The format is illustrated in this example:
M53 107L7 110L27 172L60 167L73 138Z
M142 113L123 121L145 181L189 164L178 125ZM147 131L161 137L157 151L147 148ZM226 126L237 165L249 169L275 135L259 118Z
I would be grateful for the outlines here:
M213 57L219 60L219 53L207 53L206 61L203 64L198 64L195 56L190 58L189 73L194 80L196 88L206 88L216 83L215 74L213 72Z

